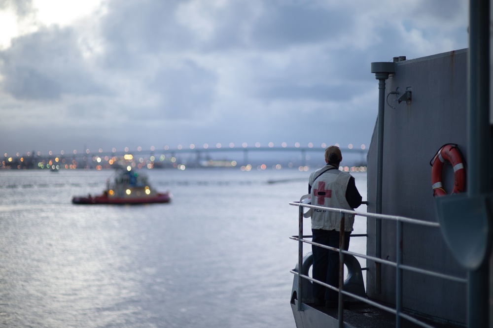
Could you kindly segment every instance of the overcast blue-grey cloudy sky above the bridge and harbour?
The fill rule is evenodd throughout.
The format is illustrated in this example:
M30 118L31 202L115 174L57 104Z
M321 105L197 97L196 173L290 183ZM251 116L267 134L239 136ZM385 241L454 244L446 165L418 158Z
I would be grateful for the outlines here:
M467 47L464 0L0 0L0 154L368 144L371 62Z

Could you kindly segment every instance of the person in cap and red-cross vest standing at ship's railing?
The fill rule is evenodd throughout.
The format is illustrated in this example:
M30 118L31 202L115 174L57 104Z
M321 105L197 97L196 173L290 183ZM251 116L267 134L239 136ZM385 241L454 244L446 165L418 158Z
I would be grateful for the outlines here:
M354 178L351 174L339 170L342 161L341 150L337 146L325 149L326 165L310 175L308 193L312 205L353 210L361 205ZM349 249L349 238L354 223L354 215L345 214L344 250ZM339 248L340 214L314 209L312 213L313 241L322 245ZM313 278L338 287L339 253L312 245ZM338 293L313 283L313 296L317 305L338 306Z

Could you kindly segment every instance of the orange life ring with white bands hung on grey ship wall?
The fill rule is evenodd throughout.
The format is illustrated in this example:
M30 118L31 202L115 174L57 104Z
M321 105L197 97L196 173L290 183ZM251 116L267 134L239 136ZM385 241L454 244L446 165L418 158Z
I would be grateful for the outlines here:
M442 168L445 161L454 168L454 190L452 194L462 193L465 190L465 167L462 163L462 155L456 144L446 144L436 153L431 168L431 188L433 196L445 196L447 192L442 186Z

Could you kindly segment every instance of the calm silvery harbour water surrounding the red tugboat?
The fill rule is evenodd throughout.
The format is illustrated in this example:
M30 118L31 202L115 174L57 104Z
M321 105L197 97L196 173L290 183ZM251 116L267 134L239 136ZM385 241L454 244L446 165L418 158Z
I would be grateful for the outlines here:
M172 203L71 203L111 173L0 171L0 326L295 327L288 202L310 172L151 170ZM366 199L366 175L353 175Z

